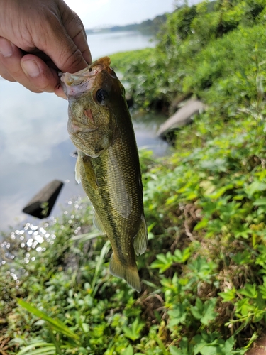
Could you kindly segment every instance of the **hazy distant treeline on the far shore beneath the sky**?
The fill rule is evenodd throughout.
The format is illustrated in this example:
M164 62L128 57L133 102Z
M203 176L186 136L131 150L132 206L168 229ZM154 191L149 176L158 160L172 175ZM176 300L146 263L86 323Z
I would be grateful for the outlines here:
M86 30L87 34L100 33L100 32L117 32L117 31L140 31L141 33L155 34L160 30L160 27L167 20L167 13L156 16L153 20L146 20L142 23L133 23L126 26L113 26L109 28L99 28L99 30L89 29Z

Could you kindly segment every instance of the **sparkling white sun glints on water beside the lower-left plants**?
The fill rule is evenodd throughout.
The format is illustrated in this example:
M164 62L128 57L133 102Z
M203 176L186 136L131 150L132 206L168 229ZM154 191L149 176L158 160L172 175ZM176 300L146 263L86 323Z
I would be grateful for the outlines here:
M70 205L72 205L71 209L69 208ZM74 229L74 235L71 239L68 239L67 243L74 241L74 236L76 238L82 236L82 231L88 231L87 228L82 229L81 226L77 226L77 222L79 224L82 221L82 209L85 209L88 213L87 201L81 197L78 197L77 200L69 200L67 207L65 206L64 214L70 218L68 223ZM0 271L3 270L7 278L9 276L13 278L17 290L21 288L21 279L28 276L28 270L30 270L28 266L32 268L35 260L40 261L38 256L42 255L47 249L49 250L50 245L55 243L58 231L65 229L67 222L63 222L60 229L55 226L57 224L55 217L49 217L42 225L38 222L37 224L28 222L20 229L6 233L4 241L0 242ZM94 233L93 237L98 235ZM2 287L1 292L4 298L9 300L9 290Z

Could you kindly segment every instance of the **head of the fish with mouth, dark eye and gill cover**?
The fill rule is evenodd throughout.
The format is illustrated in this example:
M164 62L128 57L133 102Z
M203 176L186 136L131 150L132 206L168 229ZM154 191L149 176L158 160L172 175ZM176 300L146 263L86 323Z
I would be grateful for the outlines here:
M92 158L111 146L117 130L113 107L124 95L123 85L109 65L110 59L104 57L84 70L60 75L69 102L70 138Z

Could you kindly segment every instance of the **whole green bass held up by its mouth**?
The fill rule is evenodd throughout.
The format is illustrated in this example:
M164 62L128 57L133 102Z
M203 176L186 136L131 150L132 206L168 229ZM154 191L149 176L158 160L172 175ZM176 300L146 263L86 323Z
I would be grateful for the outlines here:
M78 152L76 180L94 207L94 226L111 243L110 272L140 293L135 255L148 244L143 183L125 89L110 63L99 58L60 78L69 103L67 130Z

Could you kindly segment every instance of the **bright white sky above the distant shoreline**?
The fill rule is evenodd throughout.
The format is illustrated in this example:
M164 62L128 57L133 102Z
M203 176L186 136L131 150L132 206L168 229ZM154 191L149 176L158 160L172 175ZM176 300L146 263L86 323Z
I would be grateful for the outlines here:
M65 0L85 28L123 26L174 11L174 0Z

